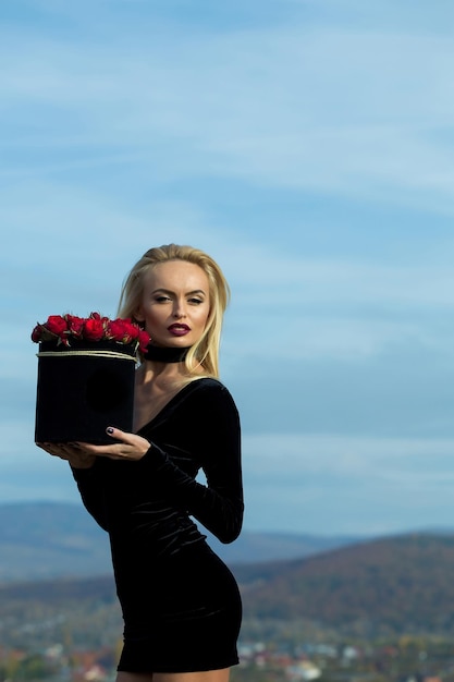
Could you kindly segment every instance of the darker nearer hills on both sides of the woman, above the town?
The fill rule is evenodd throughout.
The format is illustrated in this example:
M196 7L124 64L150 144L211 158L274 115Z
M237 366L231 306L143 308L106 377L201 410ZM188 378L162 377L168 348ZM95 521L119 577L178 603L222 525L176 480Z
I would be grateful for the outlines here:
M245 621L304 621L355 636L454 636L454 535L382 538L306 559L244 563L232 570L243 594ZM84 631L108 614L118 629L111 575L3 585L0 602L11 623L23 622L28 612L45 613L46 622L56 613L70 613L77 616ZM98 625L94 636L102 632Z

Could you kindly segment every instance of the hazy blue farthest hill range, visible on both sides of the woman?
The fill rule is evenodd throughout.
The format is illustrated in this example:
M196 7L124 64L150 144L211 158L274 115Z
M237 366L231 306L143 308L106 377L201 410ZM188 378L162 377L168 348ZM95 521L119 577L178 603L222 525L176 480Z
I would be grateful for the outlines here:
M226 563L242 564L315 555L358 541L244 531L231 545L209 541ZM28 502L0 504L0 583L109 573L107 535L82 504Z

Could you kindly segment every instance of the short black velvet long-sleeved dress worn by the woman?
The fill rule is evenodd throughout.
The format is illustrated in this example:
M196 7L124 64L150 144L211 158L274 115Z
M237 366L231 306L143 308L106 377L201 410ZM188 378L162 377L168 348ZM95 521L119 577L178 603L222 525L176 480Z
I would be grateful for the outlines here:
M226 388L186 385L139 435L137 461L73 470L86 509L110 537L124 619L119 670L191 672L238 662L242 604L195 521L223 543L243 521L240 421ZM195 479L203 470L206 484Z

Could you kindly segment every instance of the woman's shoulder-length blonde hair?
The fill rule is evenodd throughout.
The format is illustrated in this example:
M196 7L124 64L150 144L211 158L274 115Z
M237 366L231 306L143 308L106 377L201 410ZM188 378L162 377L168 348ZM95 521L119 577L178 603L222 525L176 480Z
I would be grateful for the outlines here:
M124 280L118 316L128 317L134 321L134 314L142 302L144 276L160 263L185 260L198 265L208 277L210 312L201 338L188 351L185 365L193 374L195 365L201 365L206 374L219 377L219 348L221 343L222 320L230 301L230 287L219 265L208 254L193 246L164 244L148 249L135 264Z

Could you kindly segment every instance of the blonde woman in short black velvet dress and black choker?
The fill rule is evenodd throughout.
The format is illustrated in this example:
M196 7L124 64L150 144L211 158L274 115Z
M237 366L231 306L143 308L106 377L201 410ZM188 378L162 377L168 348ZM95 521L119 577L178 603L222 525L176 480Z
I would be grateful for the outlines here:
M204 252L149 249L119 308L151 337L136 372L134 433L108 426L109 446L41 443L70 462L109 533L124 618L118 682L226 682L238 662L238 588L196 524L231 543L243 521L238 415L217 378L228 299Z

